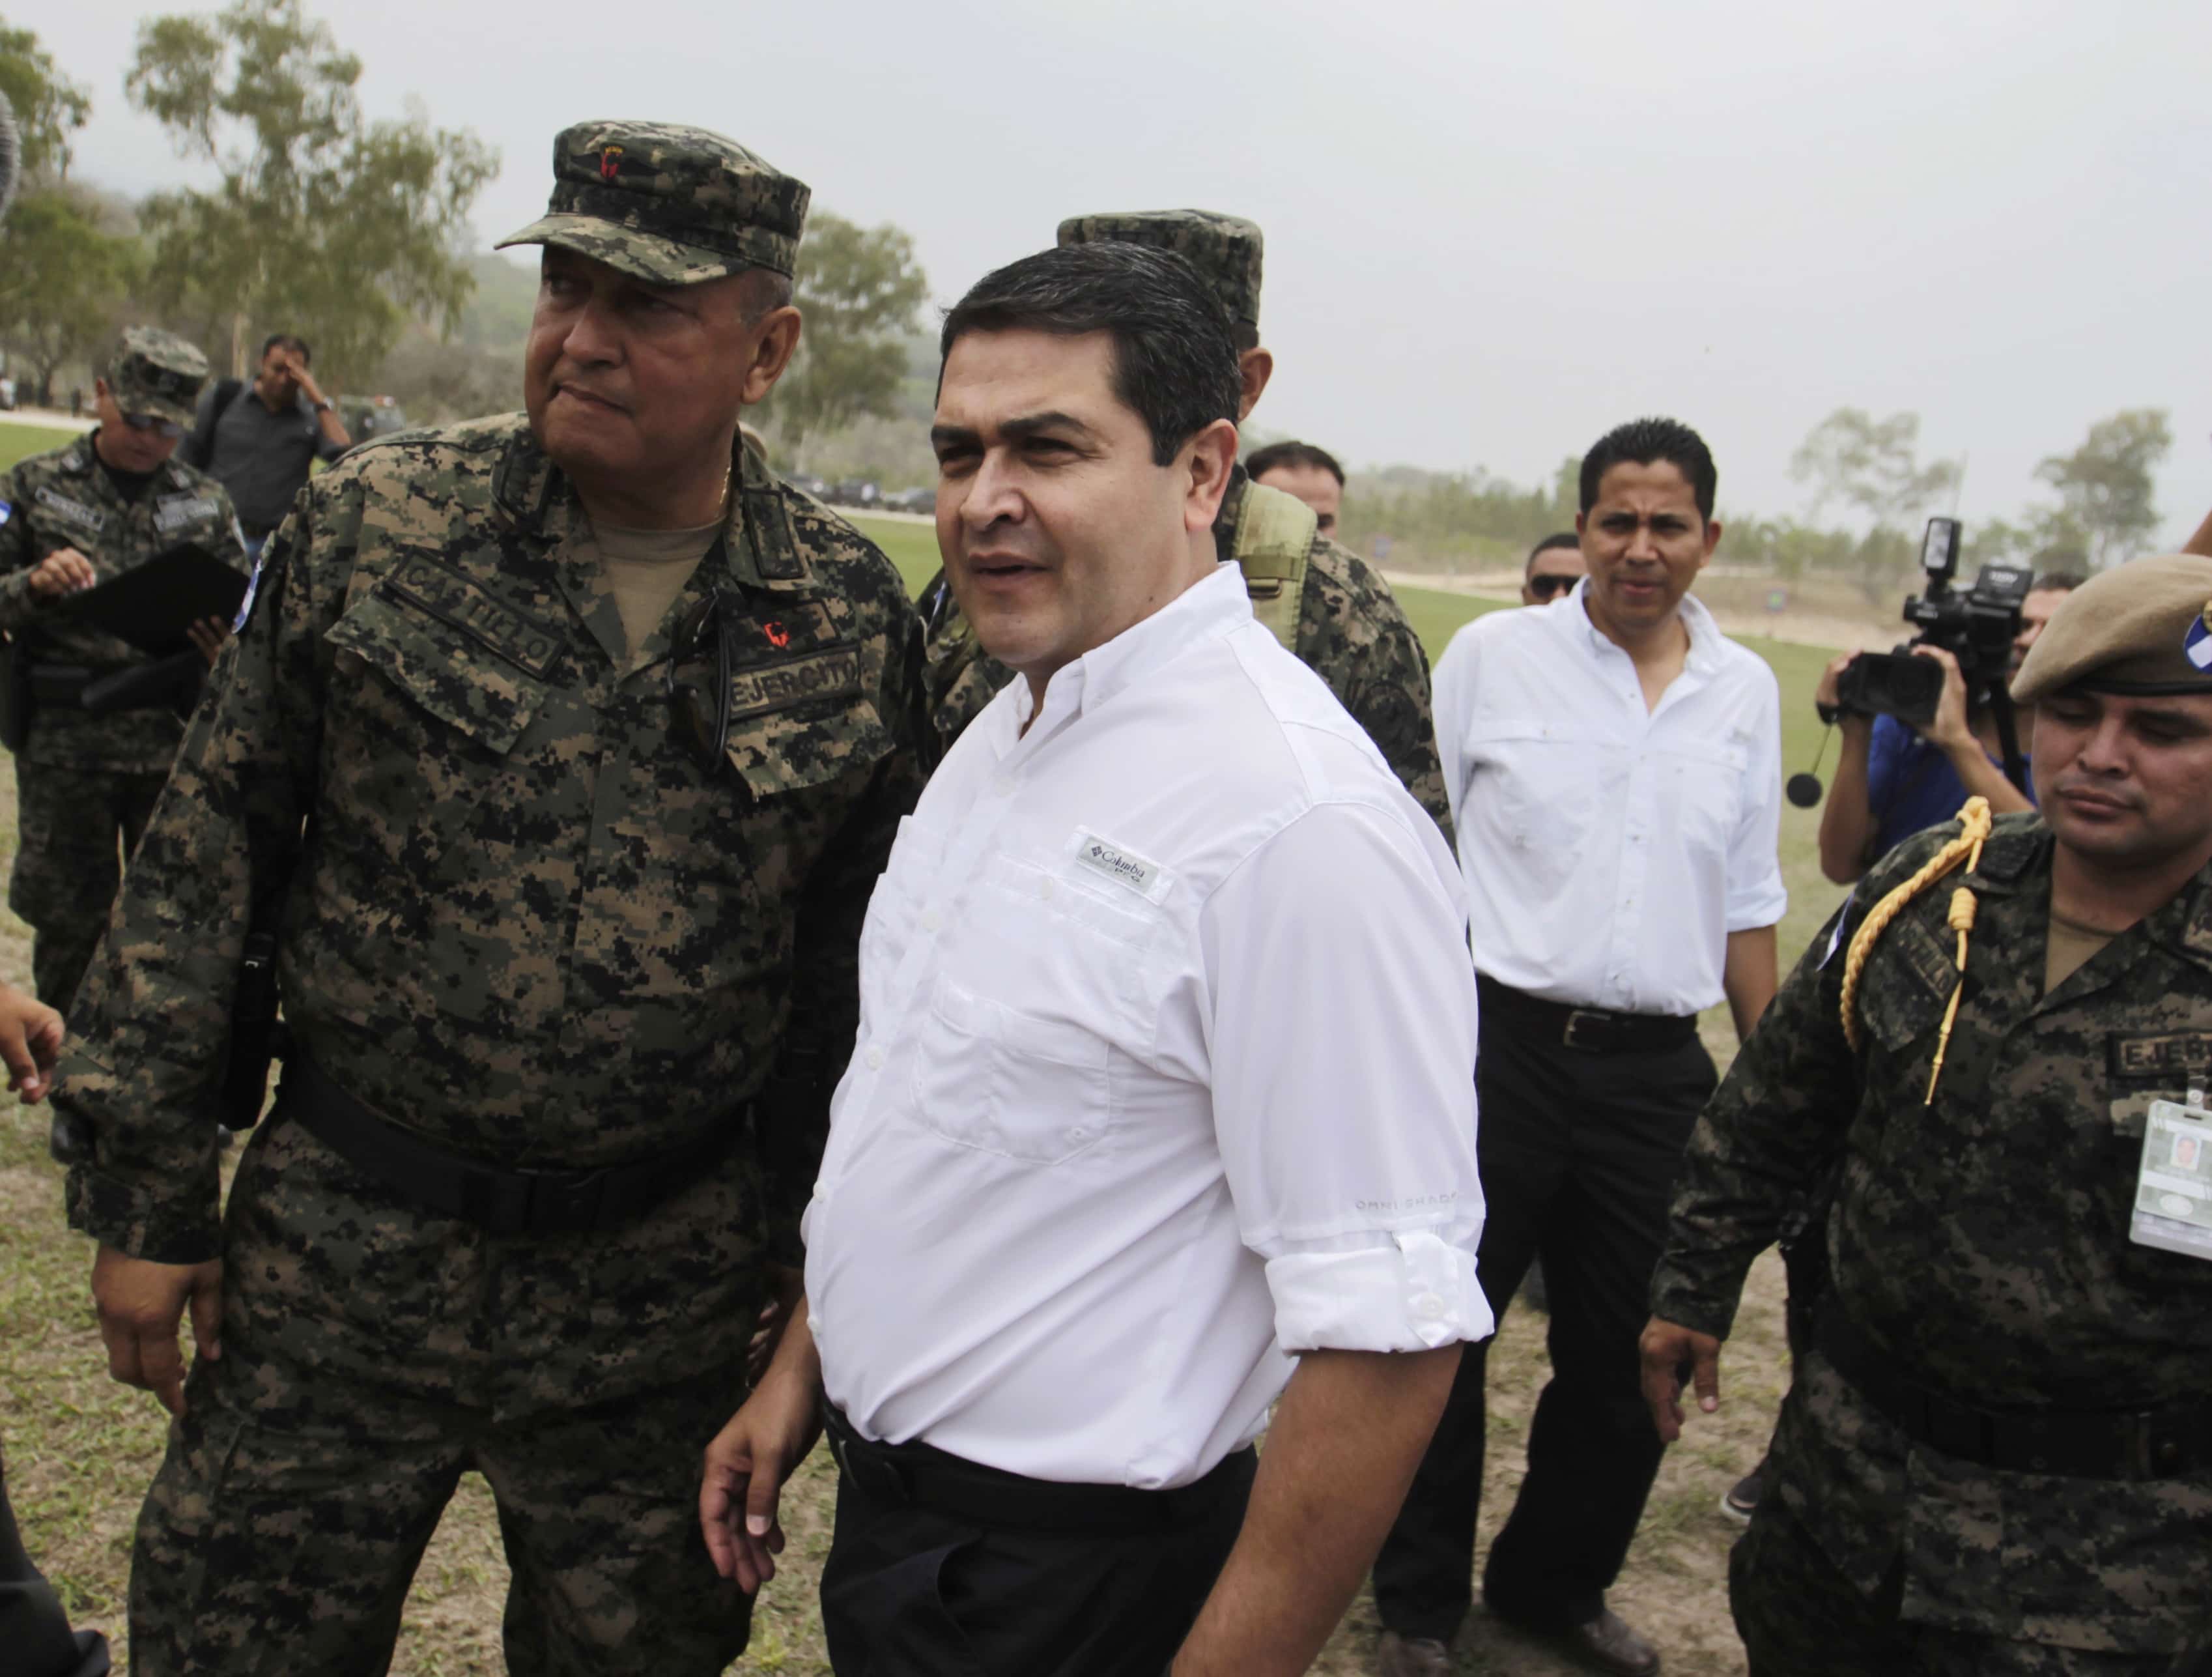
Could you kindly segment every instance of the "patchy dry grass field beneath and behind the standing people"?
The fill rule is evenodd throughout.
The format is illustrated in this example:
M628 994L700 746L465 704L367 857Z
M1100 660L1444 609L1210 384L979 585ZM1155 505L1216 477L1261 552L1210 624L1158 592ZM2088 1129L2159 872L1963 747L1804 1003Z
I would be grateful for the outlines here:
M62 440L58 431L0 420L0 467ZM925 524L863 524L909 584L936 571L936 542ZM1458 624L1489 608L1464 595L1420 588L1400 597L1431 657ZM1794 770L1812 761L1818 735L1812 684L1827 655L1778 642L1745 644L1774 666L1781 681L1783 761ZM1814 863L1814 821L1816 812L1783 810L1781 854L1790 883L1785 962L1796 958L1836 900ZM15 790L9 774L0 783L0 865L13 865L13 856ZM0 912L0 978L29 982L29 934L7 912ZM1725 1062L1732 1046L1725 1015L1717 1009L1703 1024ZM7 1108L0 1113L0 1429L7 1434L9 1491L27 1544L71 1615L117 1633L131 1524L161 1456L164 1416L150 1396L106 1378L106 1354L86 1292L88 1270L91 1246L62 1226L60 1173L46 1159L44 1115ZM1515 1310L1491 1354L1484 1535L1504 1518L1522 1476L1528 1416L1546 1378L1542 1330L1542 1316ZM1785 1381L1781 1274L1772 1254L1754 1270L1723 1378L1728 1400L1721 1414L1694 1420L1690 1436L1668 1454L1628 1569L1613 1593L1613 1604L1659 1642L1668 1670L1677 1675L1734 1677L1743 1670L1725 1600L1725 1555L1739 1527L1717 1511L1717 1502L1765 1449ZM770 1586L754 1619L752 1650L734 1670L827 1673L814 1577L830 1540L830 1491L832 1478L816 1451L785 1498L792 1533L785 1571ZM491 1496L471 1473L416 1575L392 1668L403 1677L500 1673L504 1589ZM1325 1677L1367 1670L1374 1637L1374 1613L1363 1595L1314 1670ZM1551 1677L1571 1668L1484 1622L1469 1670Z

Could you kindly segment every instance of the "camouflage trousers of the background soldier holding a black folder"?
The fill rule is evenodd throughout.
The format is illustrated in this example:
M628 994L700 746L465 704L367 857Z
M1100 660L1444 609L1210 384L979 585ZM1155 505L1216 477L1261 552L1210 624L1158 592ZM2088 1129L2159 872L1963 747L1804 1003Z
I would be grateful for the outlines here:
M55 768L15 759L15 874L7 905L38 938L38 1000L69 1011L108 929L124 858L137 850L166 772Z

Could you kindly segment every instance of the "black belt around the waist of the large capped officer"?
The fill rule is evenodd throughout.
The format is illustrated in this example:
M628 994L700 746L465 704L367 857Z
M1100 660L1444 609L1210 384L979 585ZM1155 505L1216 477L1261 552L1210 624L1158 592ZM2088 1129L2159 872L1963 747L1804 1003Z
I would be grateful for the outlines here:
M599 1170L509 1170L431 1146L349 1095L305 1049L292 1046L276 1091L290 1117L361 1170L429 1210L467 1217L493 1235L595 1235L637 1221L730 1150L730 1122L675 1153Z

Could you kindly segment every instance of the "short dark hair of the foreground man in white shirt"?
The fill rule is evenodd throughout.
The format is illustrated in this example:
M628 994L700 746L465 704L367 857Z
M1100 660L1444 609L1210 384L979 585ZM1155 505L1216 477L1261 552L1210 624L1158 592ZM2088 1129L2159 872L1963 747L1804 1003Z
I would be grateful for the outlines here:
M1199 270L1172 250L1099 241L1055 246L978 279L938 334L938 383L967 332L1113 338L1113 394L1152 434L1168 465L1214 420L1237 423L1243 381L1230 316Z

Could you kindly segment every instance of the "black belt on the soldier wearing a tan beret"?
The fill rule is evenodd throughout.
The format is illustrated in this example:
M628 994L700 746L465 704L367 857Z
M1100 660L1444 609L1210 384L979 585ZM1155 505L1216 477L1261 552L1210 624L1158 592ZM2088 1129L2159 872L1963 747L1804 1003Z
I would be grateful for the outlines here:
M2166 1480L2212 1467L2212 1403L2172 1409L1975 1409L1898 1374L1896 1356L1829 1301L1820 1354L1898 1431L2004 1473Z

